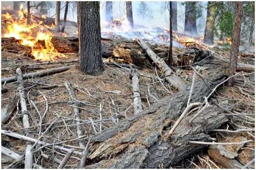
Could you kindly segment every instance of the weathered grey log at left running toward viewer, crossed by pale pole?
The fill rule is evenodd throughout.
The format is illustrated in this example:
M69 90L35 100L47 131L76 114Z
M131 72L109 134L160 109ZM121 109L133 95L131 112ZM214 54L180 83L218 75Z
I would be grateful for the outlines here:
M29 128L29 112L26 107L26 98L25 98L25 91L23 85L23 76L20 68L17 68L17 81L19 83L19 96L20 96L20 108L21 108L21 115L22 115L22 123L23 128ZM25 130L26 135L32 137L29 133L29 129ZM26 152L25 152L25 169L32 169L33 164L33 154L32 154L32 145L27 142L26 144Z

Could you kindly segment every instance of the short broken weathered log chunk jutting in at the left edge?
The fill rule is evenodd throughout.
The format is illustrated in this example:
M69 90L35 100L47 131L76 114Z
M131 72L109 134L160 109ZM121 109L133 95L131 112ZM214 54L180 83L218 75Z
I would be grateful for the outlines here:
M6 121L8 121L9 118L11 117L12 113L16 108L17 101L18 101L18 95L15 94L12 97L10 103L6 104L6 106L2 109L2 112L1 112L2 124L6 123Z

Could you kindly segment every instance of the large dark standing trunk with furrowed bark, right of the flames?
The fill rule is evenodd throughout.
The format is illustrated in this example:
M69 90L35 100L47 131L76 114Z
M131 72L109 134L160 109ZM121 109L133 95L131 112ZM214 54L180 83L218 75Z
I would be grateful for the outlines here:
M78 2L79 69L90 75L103 72L99 2Z

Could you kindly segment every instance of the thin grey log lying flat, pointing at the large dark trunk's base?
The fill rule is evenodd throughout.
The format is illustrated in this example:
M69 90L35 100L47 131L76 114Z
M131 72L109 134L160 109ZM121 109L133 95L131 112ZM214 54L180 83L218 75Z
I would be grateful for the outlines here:
M43 70L40 72L27 73L27 74L23 75L23 79L32 78L32 77L42 77L45 75L51 75L51 74L55 74L55 73L59 73L59 72L64 72L64 71L69 70L71 67L72 66L64 66L64 67L58 67L58 68L54 68L54 69L47 69L47 70ZM13 82L16 80L17 80L16 76L12 76L9 78L2 78L1 82L3 84L5 81L6 81L6 83L9 83L9 82Z

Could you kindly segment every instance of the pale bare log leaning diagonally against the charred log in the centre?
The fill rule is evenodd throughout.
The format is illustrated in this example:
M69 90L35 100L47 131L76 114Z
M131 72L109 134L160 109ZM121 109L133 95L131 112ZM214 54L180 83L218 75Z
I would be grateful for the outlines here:
M177 89L178 91L183 90L185 88L184 82L181 80L180 77L176 76L172 69L166 64L166 62L163 60L163 58L160 58L157 56L149 47L148 45L141 39L136 40L140 46L146 50L148 56L151 58L151 60L157 65L158 69L163 72L163 74L166 77L166 80L174 89Z

